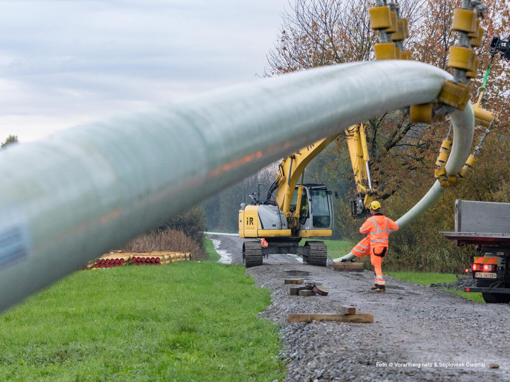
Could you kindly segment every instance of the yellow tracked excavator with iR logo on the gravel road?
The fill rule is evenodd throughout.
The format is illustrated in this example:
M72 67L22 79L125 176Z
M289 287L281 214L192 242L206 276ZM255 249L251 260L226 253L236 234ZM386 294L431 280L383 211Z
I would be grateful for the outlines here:
M351 214L366 216L376 191L370 180L365 127L350 126L342 134L347 141L357 189L355 198L349 200ZM262 245L259 240L243 243L246 267L262 265L263 257L269 254L285 253L302 255L303 262L311 265L326 266L327 248L323 241L309 240L303 246L299 242L302 238L331 236L332 193L324 184L303 183L303 177L308 163L340 135L321 139L284 158L266 199L260 198L259 184L258 192L250 195L251 204L241 204L239 237L262 239Z

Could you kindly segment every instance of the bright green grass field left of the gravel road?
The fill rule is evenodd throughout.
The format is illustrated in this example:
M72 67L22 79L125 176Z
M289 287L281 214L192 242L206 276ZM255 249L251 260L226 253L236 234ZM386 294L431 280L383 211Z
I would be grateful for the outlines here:
M270 291L244 270L212 259L76 272L0 316L0 380L282 380L278 327L257 318Z

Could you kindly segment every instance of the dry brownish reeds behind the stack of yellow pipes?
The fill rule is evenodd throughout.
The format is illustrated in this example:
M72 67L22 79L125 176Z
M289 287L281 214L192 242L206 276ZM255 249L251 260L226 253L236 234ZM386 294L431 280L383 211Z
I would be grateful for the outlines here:
M183 232L167 229L150 232L131 240L123 251L174 251L190 252L193 260L201 260L204 255L200 245Z

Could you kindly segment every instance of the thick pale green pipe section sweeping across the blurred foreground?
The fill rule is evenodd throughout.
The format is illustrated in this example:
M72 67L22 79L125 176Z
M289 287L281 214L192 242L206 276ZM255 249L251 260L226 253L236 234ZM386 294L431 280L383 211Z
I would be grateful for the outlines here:
M0 310L317 139L435 101L410 61L328 66L91 123L0 152Z

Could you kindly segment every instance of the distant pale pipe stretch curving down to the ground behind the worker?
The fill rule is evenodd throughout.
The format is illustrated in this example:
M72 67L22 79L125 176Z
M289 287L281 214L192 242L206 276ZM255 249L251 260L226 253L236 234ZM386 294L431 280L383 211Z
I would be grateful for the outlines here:
M453 124L453 143L451 147L451 153L446 162L446 171L448 174L457 174L469 155L471 144L473 142L474 134L474 112L471 101L468 102L464 111L455 110L450 114L450 120ZM427 210L432 204L436 203L441 195L446 191L446 188L441 187L439 181L436 180L432 187L428 190L425 196L416 205L407 211L400 219L397 219L395 223L398 224L399 228L403 228L406 225L414 221L418 216ZM390 234L393 232L390 232ZM347 255L333 259L334 262L340 262L342 260L349 261L354 258L354 254L349 252Z

